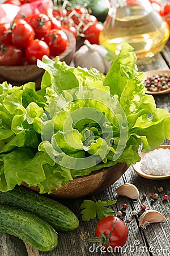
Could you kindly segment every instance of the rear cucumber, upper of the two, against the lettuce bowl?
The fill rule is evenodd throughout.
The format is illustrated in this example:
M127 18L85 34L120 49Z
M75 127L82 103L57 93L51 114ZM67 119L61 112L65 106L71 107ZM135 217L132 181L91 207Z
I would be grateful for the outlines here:
M74 230L79 226L78 218L69 208L23 186L0 192L0 204L36 214L57 231Z

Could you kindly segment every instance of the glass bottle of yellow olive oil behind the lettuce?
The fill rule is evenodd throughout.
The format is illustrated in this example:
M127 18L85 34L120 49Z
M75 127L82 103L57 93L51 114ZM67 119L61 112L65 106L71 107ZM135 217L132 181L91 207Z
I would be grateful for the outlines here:
M154 56L169 39L169 27L148 0L143 1L145 6L141 0L133 2L135 5L124 1L124 6L118 6L118 1L112 0L99 42L115 44L118 50L122 43L129 43L138 59Z

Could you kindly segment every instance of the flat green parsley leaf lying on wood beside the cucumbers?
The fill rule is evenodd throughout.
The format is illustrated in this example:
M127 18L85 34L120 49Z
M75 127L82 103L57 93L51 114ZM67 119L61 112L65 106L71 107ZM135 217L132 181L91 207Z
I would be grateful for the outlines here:
M80 205L80 209L82 209L81 214L83 221L94 220L96 217L101 220L101 218L114 215L114 210L106 207L112 204L116 204L117 200L96 201L95 197L93 197L93 199L94 201L84 200Z

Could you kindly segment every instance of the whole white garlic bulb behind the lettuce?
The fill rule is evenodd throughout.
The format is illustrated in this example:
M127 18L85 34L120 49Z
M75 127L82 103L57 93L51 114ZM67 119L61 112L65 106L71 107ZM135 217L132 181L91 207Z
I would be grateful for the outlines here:
M99 44L90 44L88 40L84 40L84 46L80 47L74 53L73 61L75 67L96 68L101 73L107 74L111 67L112 61L105 58L107 49Z

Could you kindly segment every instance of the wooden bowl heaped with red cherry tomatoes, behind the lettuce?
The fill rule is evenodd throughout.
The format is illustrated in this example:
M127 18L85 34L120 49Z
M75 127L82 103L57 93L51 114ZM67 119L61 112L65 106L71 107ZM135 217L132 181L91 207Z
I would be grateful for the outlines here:
M73 33L45 14L0 24L0 42L0 82L12 85L28 81L40 84L44 69L37 67L37 59L47 55L54 60L59 56L69 65L76 47Z

